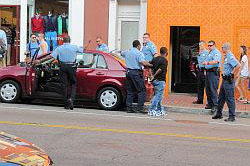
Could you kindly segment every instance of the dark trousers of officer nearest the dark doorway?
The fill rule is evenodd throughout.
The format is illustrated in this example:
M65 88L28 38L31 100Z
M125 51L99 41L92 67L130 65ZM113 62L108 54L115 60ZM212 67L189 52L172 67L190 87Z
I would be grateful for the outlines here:
M205 88L205 74L204 74L204 69L200 69L200 71L198 71L198 75L197 75L197 79L198 79L198 101L199 102L203 102L204 99L204 88Z

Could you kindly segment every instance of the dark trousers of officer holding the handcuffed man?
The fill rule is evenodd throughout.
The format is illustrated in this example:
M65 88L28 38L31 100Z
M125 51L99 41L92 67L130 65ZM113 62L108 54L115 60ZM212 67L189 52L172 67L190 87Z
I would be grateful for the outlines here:
M146 101L146 87L144 82L144 76L142 70L127 69L126 73L126 89L127 89L127 101L126 105L130 109L132 108L134 94L138 95L138 108L141 109Z

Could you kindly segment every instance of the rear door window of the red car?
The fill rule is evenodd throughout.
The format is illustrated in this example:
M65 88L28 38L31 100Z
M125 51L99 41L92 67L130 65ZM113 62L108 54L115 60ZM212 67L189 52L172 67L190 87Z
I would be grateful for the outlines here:
M92 53L81 53L77 54L76 62L78 68L96 68L97 64L97 54Z

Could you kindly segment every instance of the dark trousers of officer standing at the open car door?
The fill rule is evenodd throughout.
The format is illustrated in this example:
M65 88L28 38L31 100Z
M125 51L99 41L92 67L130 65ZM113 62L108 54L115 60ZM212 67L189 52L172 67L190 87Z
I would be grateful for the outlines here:
M76 69L74 64L60 64L60 79L65 104L67 104L68 99L72 99L72 102L75 100L77 83Z

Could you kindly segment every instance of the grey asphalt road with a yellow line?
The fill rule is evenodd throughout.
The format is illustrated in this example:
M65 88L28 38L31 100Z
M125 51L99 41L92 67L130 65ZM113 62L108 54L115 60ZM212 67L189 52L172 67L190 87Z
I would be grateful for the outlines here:
M43 148L56 166L247 166L250 120L0 103L0 131Z

